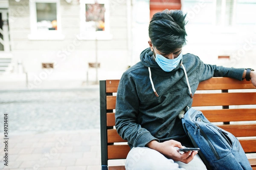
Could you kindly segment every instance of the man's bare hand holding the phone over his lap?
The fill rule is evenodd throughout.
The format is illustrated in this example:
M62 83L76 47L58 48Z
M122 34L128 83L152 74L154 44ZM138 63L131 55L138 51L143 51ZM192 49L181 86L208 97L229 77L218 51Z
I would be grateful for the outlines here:
M167 158L171 158L174 161L181 161L183 163L189 163L192 161L194 156L198 153L198 151L191 151L185 152L183 154L180 154L175 147L184 148L180 142L177 142L175 140L169 140L165 142L157 142L157 141L151 141L148 142L147 147L157 150L158 152L162 153Z

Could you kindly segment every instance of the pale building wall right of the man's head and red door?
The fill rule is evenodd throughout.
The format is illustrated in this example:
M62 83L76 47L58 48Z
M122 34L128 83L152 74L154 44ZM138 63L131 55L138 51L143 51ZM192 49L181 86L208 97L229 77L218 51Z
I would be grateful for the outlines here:
M184 52L227 67L256 65L256 0L183 0Z

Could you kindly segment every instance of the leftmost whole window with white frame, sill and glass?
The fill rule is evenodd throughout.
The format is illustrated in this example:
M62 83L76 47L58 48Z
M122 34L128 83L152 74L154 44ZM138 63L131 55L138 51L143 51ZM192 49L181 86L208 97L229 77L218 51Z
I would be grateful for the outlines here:
M61 34L60 0L32 0L30 6L29 39L59 40Z

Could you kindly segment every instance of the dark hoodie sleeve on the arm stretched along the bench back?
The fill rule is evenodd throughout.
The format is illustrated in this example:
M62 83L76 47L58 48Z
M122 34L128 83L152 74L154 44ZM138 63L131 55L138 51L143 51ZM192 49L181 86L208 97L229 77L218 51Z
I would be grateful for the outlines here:
M238 79L242 80L244 69L245 68L227 68L223 66L216 66L216 65L208 65L204 64L200 60L200 65L199 67L199 81L204 81L207 80L211 77L230 77L233 79Z

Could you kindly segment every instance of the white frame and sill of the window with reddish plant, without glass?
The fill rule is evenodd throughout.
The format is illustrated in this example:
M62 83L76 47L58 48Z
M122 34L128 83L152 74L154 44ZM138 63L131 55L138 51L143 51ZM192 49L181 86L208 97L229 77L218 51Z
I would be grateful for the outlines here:
M79 40L111 40L110 34L110 17L109 17L109 1L97 0L97 3L104 4L105 11L105 30L104 31L85 31L85 4L93 4L95 0L80 0L80 34Z

